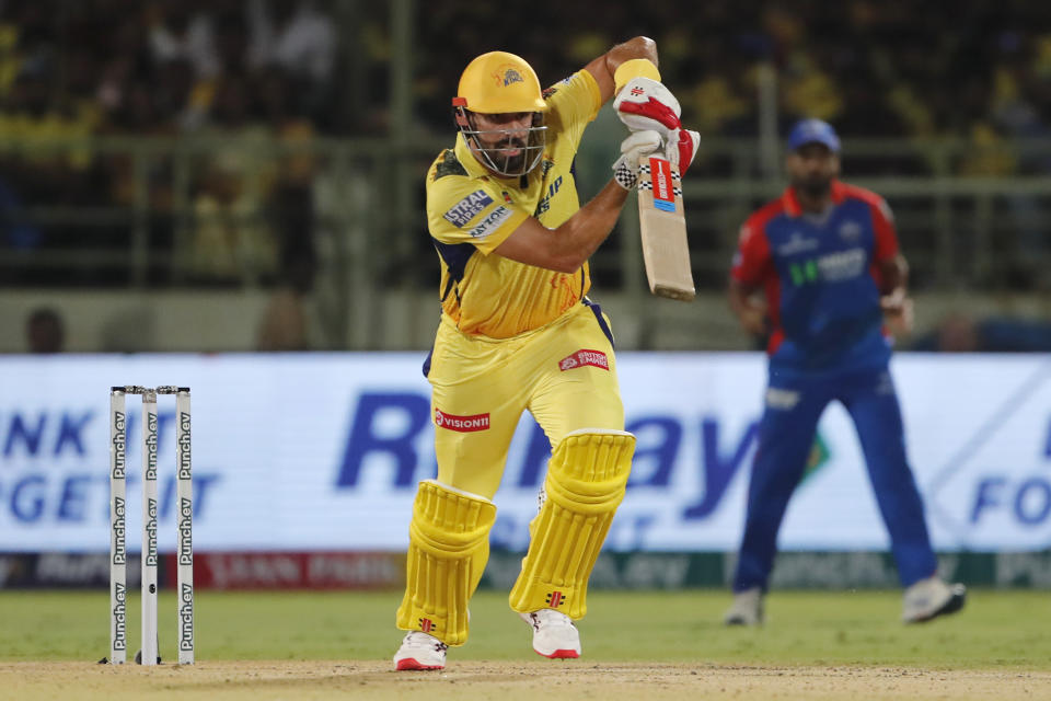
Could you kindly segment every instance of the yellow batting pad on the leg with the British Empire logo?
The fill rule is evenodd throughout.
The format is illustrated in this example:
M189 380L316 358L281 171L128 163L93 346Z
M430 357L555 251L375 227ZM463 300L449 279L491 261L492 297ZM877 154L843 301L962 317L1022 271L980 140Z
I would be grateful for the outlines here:
M519 612L587 613L588 577L624 498L635 436L584 429L567 435L547 467L547 498L531 525L529 552L511 589Z

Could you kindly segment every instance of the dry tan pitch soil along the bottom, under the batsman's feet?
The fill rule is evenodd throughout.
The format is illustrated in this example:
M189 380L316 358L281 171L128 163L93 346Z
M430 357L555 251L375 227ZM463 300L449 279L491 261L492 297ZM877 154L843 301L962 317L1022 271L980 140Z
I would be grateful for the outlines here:
M192 667L0 663L0 698L216 699L1051 699L1051 673L878 667L742 667L450 660L395 673L388 662L199 662Z

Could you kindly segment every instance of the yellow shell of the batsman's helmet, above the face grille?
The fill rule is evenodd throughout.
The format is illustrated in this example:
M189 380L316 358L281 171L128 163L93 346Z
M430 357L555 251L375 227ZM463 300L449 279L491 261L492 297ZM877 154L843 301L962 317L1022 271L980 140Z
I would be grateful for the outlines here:
M547 108L536 72L523 58L507 51L482 54L467 64L452 104L483 114Z

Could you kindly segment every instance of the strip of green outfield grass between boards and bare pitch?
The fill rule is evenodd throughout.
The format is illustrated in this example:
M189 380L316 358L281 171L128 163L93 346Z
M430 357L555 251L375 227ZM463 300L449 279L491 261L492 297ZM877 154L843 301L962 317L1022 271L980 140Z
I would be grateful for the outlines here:
M197 657L383 660L397 647L400 593L198 591ZM1051 670L1051 596L970 593L932 623L898 621L897 591L775 591L762 629L720 623L726 591L594 591L580 623L587 660L718 665L904 666ZM107 653L106 591L0 591L0 662L97 660ZM128 637L138 647L139 601ZM501 594L471 605L471 641L450 660L531 659L529 631ZM174 658L175 607L160 600L161 655Z

